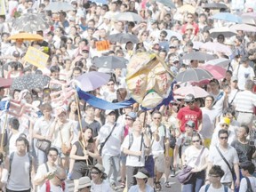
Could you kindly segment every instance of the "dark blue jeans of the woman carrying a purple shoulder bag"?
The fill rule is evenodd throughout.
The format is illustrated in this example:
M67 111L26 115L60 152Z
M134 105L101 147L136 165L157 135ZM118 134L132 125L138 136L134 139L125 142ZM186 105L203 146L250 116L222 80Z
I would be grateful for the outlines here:
M205 172L195 172L192 178L184 183L182 192L198 192L204 185Z

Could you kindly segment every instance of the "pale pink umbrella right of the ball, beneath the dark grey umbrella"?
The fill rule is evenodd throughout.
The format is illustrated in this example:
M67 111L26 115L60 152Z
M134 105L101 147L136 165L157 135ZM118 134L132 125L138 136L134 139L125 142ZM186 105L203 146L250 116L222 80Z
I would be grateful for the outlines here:
M209 95L208 92L198 86L183 86L174 91L175 96L185 96L187 94L193 94L195 98L203 98Z

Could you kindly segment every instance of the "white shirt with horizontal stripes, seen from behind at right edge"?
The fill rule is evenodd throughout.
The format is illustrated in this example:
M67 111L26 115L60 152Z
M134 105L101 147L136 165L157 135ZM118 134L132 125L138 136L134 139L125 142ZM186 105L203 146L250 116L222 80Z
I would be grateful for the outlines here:
M253 108L256 106L256 94L247 90L238 92L234 104L236 111L253 113Z

